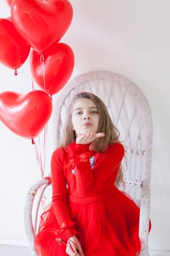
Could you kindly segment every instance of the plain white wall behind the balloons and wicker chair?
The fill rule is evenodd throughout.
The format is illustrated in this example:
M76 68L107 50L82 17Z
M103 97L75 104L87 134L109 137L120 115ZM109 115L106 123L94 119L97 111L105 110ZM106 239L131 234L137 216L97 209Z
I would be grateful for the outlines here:
M62 41L74 50L72 78L98 69L118 72L133 80L150 103L153 119L150 249L170 250L170 2L72 0L71 3L74 18ZM0 17L7 17L6 1L0 0L0 6ZM16 78L11 69L0 65L0 91L31 90L28 64L19 71ZM27 244L23 206L28 188L40 178L39 165L31 142L1 123L0 166L0 244Z

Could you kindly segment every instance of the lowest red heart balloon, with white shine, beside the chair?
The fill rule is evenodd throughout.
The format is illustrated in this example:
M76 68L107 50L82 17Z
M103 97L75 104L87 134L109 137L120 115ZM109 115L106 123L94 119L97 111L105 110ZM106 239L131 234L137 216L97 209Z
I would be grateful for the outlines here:
M12 91L0 94L0 120L22 137L36 137L51 113L52 101L45 91L31 91L26 95Z

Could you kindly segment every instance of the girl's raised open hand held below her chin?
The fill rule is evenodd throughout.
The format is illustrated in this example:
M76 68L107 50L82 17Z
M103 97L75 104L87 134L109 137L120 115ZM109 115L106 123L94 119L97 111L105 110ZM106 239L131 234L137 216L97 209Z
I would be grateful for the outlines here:
M93 140L96 140L96 138L104 137L104 132L88 132L85 135L80 135L76 138L77 144L88 144L90 142L93 142Z

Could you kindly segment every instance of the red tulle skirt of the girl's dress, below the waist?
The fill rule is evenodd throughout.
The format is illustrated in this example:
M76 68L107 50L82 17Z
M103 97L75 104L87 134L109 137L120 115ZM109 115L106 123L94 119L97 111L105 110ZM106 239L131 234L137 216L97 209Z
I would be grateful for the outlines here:
M93 203L70 202L72 220L79 231L85 256L139 255L139 208L118 189L115 195ZM55 240L58 229L53 207L42 215L35 249L39 256L66 256L66 245Z

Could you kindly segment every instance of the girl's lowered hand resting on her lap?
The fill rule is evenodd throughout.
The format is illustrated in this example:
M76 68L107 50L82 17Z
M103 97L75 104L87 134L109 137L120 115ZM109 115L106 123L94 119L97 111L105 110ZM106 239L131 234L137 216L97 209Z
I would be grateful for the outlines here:
M66 254L69 256L85 256L82 252L82 246L76 236L72 236L66 243Z

